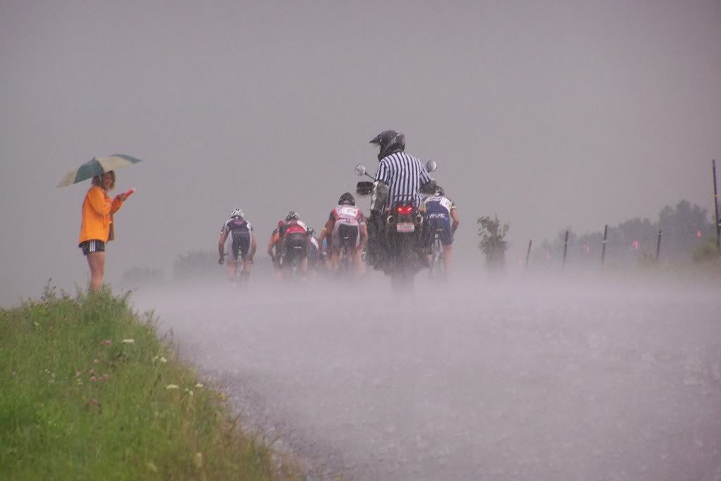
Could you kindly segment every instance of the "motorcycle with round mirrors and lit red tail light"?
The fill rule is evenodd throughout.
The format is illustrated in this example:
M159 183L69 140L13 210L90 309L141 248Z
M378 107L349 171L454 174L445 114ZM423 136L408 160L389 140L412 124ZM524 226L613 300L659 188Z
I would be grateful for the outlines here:
M426 164L428 172L433 172L437 168L438 164L433 160L429 160ZM374 268L384 270L384 273L391 278L391 285L395 289L410 290L415 274L428 266L428 260L423 253L425 217L420 211L420 206L415 205L415 196L413 196L397 198L390 208L383 208L388 195L386 185L368 175L363 165L355 166L355 173L373 180L373 182L358 182L355 187L358 195L371 195L368 235L375 236L376 239L376 242L368 247L371 263ZM435 189L435 182L432 187Z

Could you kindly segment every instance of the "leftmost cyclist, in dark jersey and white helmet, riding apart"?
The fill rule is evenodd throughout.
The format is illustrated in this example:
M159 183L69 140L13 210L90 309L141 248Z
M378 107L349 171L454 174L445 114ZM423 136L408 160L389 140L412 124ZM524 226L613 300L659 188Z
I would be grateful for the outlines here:
M230 235L229 235L230 234ZM218 264L225 262L225 244L230 239L228 250L231 255L228 258L228 278L235 282L235 268L242 262L241 279L247 282L250 277L250 269L253 264L253 256L257 244L253 235L253 226L245 219L241 209L236 208L230 213L230 219L225 221L221 228L221 236L218 239Z

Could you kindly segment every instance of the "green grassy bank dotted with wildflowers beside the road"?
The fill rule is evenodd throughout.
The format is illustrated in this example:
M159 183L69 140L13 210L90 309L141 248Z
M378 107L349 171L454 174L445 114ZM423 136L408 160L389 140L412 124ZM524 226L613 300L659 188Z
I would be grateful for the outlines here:
M125 297L0 309L2 480L296 479L222 399Z

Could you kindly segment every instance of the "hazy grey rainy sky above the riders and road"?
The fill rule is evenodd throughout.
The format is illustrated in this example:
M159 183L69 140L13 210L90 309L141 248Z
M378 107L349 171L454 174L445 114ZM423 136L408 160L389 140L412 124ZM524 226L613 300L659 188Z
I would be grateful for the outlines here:
M385 128L438 159L466 257L485 213L522 250L680 198L710 208L719 25L719 1L3 0L0 302L86 282L87 185L55 185L93 155L145 161L118 172L138 193L110 281L171 274L236 206L261 244L289 208L321 226Z

